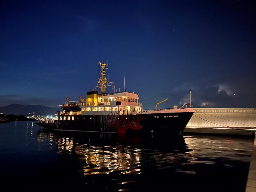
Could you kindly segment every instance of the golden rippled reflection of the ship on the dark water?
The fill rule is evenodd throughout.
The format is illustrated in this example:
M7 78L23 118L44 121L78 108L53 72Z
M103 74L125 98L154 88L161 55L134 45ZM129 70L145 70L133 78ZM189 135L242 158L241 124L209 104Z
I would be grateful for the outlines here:
M143 164L164 169L169 164L187 162L190 154L184 156L186 148L183 137L140 138L119 137L107 133L52 132L41 130L38 141L56 140L57 153L76 153L84 162L83 175L91 174L141 174ZM182 155L181 155L182 154ZM166 166L162 166L165 164Z

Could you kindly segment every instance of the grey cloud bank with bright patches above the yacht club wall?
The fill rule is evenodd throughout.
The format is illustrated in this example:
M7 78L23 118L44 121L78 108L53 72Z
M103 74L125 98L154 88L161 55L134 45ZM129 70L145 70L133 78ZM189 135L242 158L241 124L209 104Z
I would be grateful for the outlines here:
M255 108L256 90L252 83L254 80L233 79L213 85L207 81L187 82L173 88L171 94L180 105L189 104L188 90L191 88L191 103L194 107Z

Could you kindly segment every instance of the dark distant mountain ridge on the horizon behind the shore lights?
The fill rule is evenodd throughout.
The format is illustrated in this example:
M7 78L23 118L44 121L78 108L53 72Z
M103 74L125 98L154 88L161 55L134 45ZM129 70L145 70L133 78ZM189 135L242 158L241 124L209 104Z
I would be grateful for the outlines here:
M11 104L5 107L0 107L0 113L4 114L22 114L28 115L31 113L39 114L39 115L54 115L56 111L60 110L60 108L56 107L45 107L41 105L19 105L19 104Z

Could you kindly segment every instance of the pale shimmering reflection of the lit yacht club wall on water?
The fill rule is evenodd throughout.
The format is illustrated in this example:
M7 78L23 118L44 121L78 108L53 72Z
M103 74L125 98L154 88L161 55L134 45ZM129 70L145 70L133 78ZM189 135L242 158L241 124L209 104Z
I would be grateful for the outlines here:
M212 164L218 158L249 162L252 151L252 138L218 137L218 136L185 136L189 154L196 157L194 162L209 159ZM207 163L207 162L205 162Z

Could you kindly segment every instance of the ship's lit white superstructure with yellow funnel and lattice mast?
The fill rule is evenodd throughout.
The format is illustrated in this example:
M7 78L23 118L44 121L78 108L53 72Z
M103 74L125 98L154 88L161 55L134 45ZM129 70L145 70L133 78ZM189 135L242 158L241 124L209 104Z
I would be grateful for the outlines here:
M101 66L101 77L95 89L100 88L100 94L97 91L87 92L86 99L80 97L80 101L69 101L62 106L63 114L70 115L108 115L113 112L118 114L136 114L142 112L142 104L138 101L139 95L131 92L104 93L107 86L113 86L113 82L106 80L107 66L105 63L98 62Z

